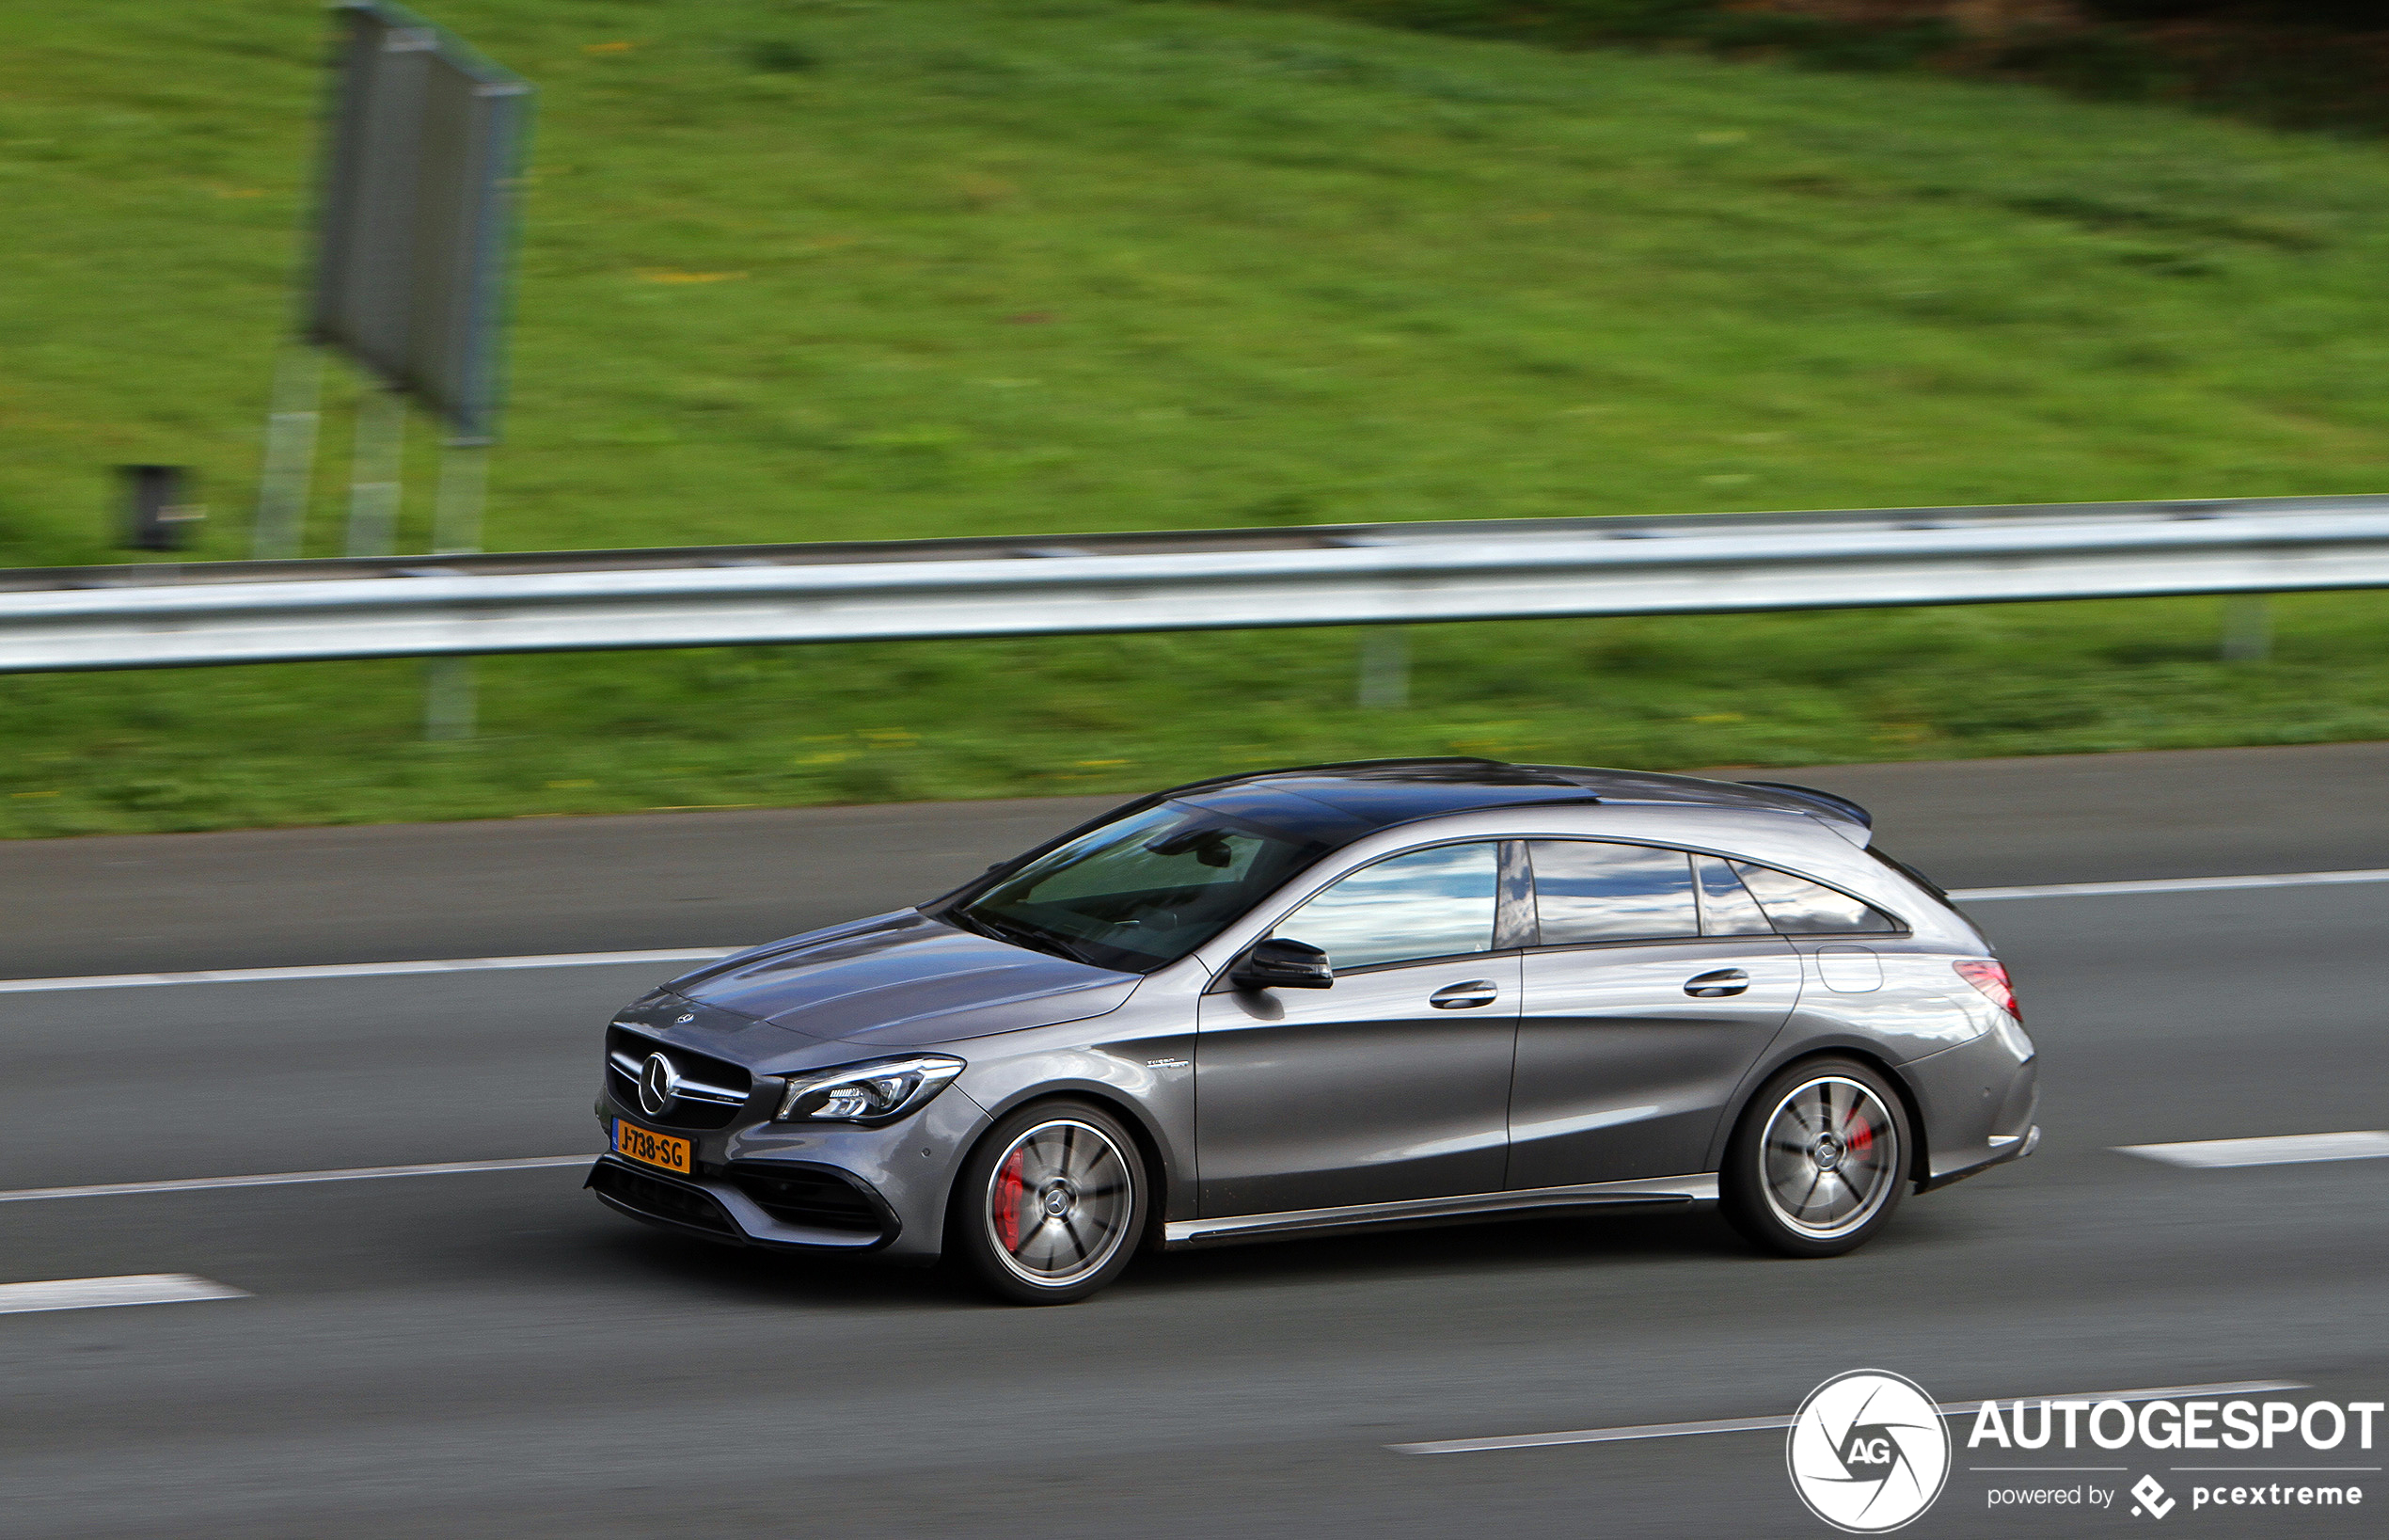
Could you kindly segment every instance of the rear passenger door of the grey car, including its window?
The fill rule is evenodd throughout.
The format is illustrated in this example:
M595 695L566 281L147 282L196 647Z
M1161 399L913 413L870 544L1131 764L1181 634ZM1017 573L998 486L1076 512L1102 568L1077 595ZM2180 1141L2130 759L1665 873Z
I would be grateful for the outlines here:
M1708 1169L1801 959L1715 856L1531 839L1536 945L1510 1090L1510 1188Z

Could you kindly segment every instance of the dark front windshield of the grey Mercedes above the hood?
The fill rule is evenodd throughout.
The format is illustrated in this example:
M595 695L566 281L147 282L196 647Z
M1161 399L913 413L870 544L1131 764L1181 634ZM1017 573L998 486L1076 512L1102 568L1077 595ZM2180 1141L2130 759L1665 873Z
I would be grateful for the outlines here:
M1099 968L1151 973L1324 854L1324 844L1166 801L1046 851L948 918Z

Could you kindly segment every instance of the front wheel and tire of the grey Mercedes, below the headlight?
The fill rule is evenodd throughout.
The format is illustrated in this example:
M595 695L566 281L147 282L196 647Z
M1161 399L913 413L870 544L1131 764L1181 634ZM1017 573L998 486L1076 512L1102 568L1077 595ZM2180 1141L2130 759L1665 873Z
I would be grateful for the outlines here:
M989 1129L946 1200L946 1258L1015 1306L1068 1306L1128 1270L1151 1181L1137 1141L1092 1102L1020 1107Z

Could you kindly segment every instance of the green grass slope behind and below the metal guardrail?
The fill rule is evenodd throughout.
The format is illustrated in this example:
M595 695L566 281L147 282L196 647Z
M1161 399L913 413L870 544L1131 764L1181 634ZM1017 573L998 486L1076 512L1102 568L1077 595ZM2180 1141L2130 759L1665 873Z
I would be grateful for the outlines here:
M2379 488L2389 158L1137 0L454 0L542 86L495 548ZM17 7L0 560L244 550L323 17ZM339 548L334 390L308 548ZM418 423L411 476L430 483ZM428 500L411 495L420 548ZM0 679L0 832L2389 734L2370 595Z

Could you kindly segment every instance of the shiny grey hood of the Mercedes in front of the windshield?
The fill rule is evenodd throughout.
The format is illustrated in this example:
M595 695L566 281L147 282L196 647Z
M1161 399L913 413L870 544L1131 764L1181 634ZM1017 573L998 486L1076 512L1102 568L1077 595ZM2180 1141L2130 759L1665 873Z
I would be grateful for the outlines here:
M1101 1016L1140 983L905 909L755 947L669 988L807 1038L932 1047Z

